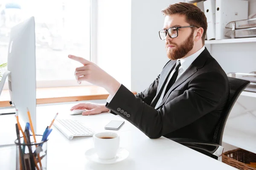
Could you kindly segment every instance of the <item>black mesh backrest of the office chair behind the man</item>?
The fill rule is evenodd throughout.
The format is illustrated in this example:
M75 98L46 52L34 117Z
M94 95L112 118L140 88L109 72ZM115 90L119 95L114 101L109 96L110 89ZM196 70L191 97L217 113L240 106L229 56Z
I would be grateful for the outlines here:
M233 77L228 77L229 82L229 97L226 103L226 106L221 113L221 117L218 121L217 127L214 131L214 136L212 142L222 145L222 136L224 132L224 127L227 122L227 118L230 114L233 105L235 104L236 100L238 99L241 92L246 88L247 85L250 84L250 81L243 80L243 79L236 79Z

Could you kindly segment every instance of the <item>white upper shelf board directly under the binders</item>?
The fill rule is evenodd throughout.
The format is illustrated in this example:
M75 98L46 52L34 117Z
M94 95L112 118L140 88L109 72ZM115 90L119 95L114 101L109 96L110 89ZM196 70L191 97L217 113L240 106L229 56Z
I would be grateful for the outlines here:
M225 43L239 43L239 42L256 42L256 37L224 39L224 40L205 40L205 44L225 44Z

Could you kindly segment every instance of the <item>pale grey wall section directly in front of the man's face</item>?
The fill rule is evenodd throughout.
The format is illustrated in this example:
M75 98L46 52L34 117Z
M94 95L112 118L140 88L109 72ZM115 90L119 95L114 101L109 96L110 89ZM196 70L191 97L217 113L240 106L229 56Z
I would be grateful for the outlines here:
M168 61L161 10L183 0L131 0L131 90L143 91L160 74Z

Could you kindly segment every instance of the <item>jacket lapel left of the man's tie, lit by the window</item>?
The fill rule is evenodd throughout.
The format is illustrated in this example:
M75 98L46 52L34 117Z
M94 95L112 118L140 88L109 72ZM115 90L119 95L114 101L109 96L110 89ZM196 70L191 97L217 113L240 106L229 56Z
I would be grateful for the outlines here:
M169 75L171 74L172 68L174 67L175 63L176 63L176 60L171 60L163 68L163 71L160 74L160 79L159 79L158 86L157 86L157 94L151 102L152 107L155 107L155 105L157 104L157 102L162 94L164 85L165 85L167 79L169 78Z

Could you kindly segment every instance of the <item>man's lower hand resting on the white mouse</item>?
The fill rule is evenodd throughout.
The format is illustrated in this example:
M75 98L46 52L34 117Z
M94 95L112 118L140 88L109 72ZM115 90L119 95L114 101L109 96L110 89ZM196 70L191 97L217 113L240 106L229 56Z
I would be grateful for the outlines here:
M70 111L76 110L76 109L84 109L84 112L82 115L93 115L93 114L99 114L102 112L108 112L109 109L105 107L105 104L97 104L97 103L79 103L78 105L74 105Z

